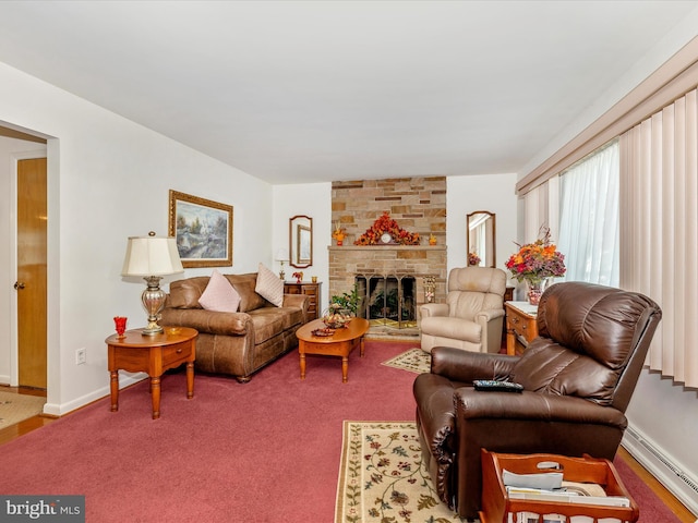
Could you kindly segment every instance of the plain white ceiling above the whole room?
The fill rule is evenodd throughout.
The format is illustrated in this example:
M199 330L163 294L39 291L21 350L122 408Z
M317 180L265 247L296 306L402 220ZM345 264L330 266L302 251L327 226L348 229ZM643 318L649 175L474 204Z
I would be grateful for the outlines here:
M0 61L270 183L521 172L697 1L0 1Z

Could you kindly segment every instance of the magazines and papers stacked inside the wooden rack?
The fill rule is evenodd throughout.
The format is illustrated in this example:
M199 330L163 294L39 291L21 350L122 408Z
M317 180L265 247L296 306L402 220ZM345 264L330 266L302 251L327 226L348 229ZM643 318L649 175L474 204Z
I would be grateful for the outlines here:
M515 474L502 472L502 481L509 499L528 501L552 501L555 503L595 504L603 507L630 507L630 500L623 496L606 496L601 485L594 483L573 483L563 479L562 472L540 474ZM539 523L539 514L519 512L518 523ZM574 515L569 521L562 514L544 514L543 523L593 523L593 518ZM509 514L514 523L514 514ZM615 518L602 518L599 523L619 523Z

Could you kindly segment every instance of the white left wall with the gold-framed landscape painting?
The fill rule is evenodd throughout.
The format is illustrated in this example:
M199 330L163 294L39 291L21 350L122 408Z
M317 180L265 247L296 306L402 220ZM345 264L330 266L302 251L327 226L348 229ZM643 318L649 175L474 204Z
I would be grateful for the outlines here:
M234 207L233 267L227 270L272 265L272 245L260 241L272 238L269 184L2 63L0 121L56 137L48 144L47 412L61 414L108 394L104 340L113 331L112 317L128 316L130 327L145 321L143 285L119 276L127 238L167 233L168 190ZM1 210L7 231L10 216ZM0 258L0 272L8 264ZM0 289L0 302L12 300L10 291ZM79 348L87 350L86 365L74 363ZM0 362L9 350L2 329Z

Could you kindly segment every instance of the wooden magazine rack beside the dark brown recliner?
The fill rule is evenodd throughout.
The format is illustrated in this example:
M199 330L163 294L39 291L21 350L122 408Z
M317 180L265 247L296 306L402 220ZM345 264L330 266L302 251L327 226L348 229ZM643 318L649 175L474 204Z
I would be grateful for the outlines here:
M515 474L540 474L539 464L555 462L562 467L566 482L593 483L603 487L607 496L622 496L628 499L629 507L609 507L588 503L568 503L542 501L537 499L509 498L502 481L502 471ZM640 511L628 495L618 477L613 463L609 460L583 458L566 458L555 454L500 454L482 449L482 523L528 523L518 515L522 512L538 514L533 521L566 521L567 523L593 522L602 518L623 523L637 522ZM561 514L565 518L550 515ZM542 516L542 518L541 518ZM612 520L604 520L612 521Z

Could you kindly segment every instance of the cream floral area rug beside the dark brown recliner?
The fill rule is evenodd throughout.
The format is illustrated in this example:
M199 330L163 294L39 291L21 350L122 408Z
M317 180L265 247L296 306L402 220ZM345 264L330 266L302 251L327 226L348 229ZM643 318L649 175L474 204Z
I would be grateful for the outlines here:
M422 465L413 422L344 422L335 523L461 523Z

